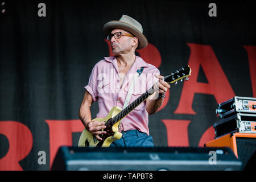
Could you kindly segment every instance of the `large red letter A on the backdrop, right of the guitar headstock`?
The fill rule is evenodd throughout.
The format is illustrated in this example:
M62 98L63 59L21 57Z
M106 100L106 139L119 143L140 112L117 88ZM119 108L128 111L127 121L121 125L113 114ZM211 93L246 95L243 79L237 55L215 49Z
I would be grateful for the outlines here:
M212 48L193 43L188 43L188 46L191 49L188 65L191 67L192 72L189 81L184 82L180 102L174 112L175 114L196 114L192 109L195 93L212 94L217 103L224 102L235 96ZM197 82L200 65L208 83Z

